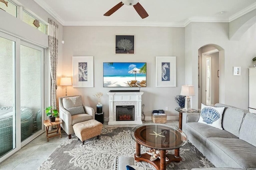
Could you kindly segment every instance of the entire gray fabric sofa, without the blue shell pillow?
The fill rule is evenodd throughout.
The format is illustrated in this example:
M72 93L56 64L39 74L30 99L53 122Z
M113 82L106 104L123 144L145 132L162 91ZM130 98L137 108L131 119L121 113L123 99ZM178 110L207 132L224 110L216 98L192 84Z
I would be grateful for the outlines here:
M225 107L223 130L198 123L200 113L183 113L182 131L188 140L216 167L256 168L256 114Z

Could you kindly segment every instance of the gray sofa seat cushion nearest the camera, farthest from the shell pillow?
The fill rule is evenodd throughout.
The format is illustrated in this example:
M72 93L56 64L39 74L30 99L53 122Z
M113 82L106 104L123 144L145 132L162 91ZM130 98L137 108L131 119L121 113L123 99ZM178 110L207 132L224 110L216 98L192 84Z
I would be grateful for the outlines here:
M255 168L256 147L234 138L208 138L206 147L230 168Z

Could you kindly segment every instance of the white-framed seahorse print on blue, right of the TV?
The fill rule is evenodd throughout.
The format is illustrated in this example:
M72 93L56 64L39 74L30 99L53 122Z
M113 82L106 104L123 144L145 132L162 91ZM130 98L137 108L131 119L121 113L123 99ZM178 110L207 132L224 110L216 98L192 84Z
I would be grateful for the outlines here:
M156 57L156 87L176 87L176 57Z

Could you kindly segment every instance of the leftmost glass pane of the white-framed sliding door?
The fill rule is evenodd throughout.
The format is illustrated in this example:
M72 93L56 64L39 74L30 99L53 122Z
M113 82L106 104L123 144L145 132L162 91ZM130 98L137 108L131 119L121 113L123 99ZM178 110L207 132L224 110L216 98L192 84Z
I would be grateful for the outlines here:
M16 148L15 41L10 39L0 37L0 157Z

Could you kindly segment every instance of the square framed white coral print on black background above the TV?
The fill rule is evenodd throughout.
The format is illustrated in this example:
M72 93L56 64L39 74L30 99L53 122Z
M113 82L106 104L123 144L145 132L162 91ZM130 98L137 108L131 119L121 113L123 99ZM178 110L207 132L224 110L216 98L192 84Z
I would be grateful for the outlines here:
M134 54L134 35L116 35L115 54Z

